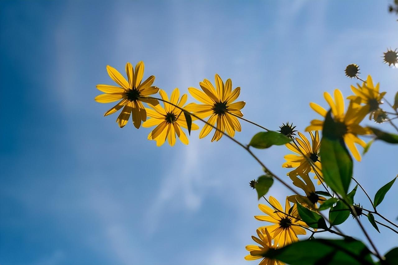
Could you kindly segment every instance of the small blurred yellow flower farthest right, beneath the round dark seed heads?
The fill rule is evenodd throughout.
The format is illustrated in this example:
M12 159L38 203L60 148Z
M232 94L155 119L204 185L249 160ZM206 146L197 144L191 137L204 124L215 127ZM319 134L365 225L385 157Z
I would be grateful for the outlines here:
M370 75L366 79L366 82L363 82L362 86L357 84L358 87L354 87L351 85L351 90L355 95L347 97L349 100L354 100L357 97L361 98L361 103L365 104L365 108L368 109L369 120L372 118L372 115L375 111L378 110L378 106L382 104L381 99L386 95L386 92L379 93L379 83L376 86L373 86L373 80Z

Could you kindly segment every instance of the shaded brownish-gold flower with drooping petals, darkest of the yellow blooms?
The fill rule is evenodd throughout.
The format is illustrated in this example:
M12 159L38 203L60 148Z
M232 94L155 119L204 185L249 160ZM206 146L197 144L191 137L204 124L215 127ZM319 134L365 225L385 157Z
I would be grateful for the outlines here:
M301 179L298 178L297 174L298 176L300 176ZM308 207L309 209L315 210L317 208L317 203L323 203L324 201L326 201L325 197L318 196L318 194L315 193L315 186L308 176L308 173L305 174L302 172L298 173L292 171L289 174L289 177L293 181L294 186L302 189L305 192L305 196L296 194L287 197L287 199L292 203L298 202L301 205Z

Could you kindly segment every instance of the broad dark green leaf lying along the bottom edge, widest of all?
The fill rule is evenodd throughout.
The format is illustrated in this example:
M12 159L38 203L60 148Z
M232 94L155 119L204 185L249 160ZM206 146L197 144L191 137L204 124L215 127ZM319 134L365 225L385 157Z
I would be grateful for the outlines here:
M374 265L371 251L353 238L343 240L311 239L298 241L279 249L269 249L265 257L291 265L345 264Z

